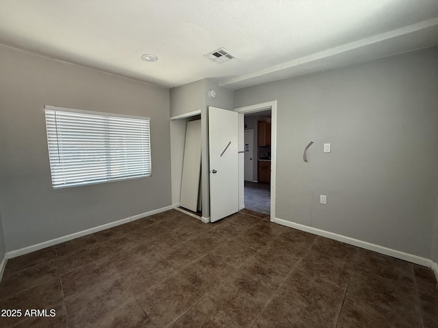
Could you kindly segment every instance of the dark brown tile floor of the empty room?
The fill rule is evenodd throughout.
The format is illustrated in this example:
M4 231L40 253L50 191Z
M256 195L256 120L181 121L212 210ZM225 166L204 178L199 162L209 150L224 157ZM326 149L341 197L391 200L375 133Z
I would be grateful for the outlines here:
M438 327L430 269L243 210L170 210L8 261L0 327Z

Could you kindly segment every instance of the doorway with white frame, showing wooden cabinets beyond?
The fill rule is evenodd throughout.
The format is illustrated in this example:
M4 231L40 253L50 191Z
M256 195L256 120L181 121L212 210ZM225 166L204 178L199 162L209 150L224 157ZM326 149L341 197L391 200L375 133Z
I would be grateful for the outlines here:
M235 109L240 113L240 209L275 219L276 100ZM252 142L251 142L252 141Z

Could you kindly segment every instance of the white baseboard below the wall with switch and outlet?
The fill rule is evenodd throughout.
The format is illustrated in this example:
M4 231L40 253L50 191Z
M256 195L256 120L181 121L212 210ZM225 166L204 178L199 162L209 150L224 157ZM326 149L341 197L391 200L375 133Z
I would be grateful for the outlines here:
M350 238L348 236L343 236L342 234L335 234L333 232L329 232L326 230L321 230L318 228L304 226L300 223L295 223L292 221L287 221L287 220L275 218L274 222L279 223L282 226L286 226L289 228L295 228L297 230L302 230L305 232L309 232L311 234L317 234L318 236L323 236L326 238L334 239L335 241L341 241L342 243L354 245L357 247L368 249L370 251L376 251L377 253L392 256L393 258L400 258L400 260L404 260L404 261L408 261L408 262L422 265L424 267L432 268L433 262L432 262L432 260L429 260L428 258L422 258L421 256L416 256L413 254L404 253L403 251L397 251L396 249L391 249L391 248L384 247L381 245L368 243L366 241L360 241L359 239ZM437 271L435 271L435 274L437 274Z

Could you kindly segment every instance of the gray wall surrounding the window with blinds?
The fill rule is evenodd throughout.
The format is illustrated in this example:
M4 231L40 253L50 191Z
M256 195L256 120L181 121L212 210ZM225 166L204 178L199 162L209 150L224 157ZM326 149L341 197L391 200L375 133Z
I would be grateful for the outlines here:
M169 90L0 46L6 250L171 204ZM44 105L151 118L152 177L53 190Z

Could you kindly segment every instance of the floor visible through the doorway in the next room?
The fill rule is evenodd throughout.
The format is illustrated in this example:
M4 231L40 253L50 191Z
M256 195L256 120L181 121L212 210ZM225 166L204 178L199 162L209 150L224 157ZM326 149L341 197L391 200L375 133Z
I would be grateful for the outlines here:
M270 214L270 184L245 181L245 208L263 214Z

